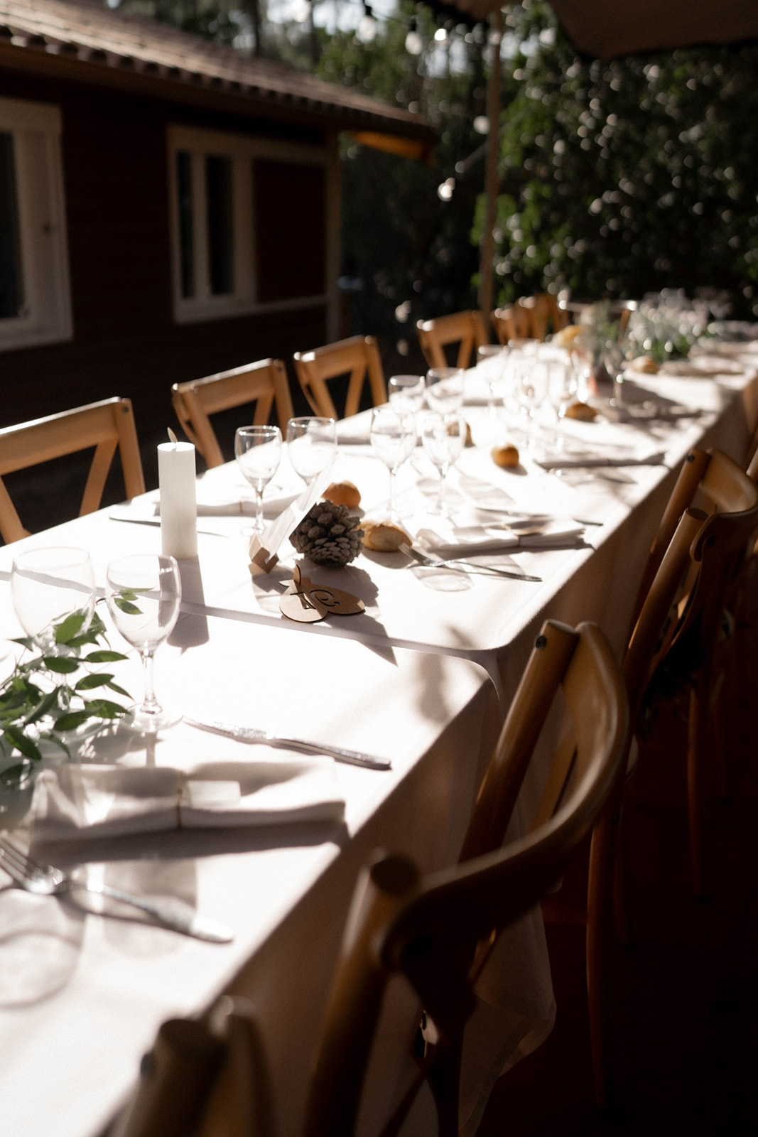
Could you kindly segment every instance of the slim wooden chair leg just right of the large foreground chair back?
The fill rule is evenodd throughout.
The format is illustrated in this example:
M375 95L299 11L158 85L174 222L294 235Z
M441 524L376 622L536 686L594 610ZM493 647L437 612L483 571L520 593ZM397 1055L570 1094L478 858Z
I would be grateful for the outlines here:
M610 1026L608 998L609 930L613 894L614 829L610 816L592 831L586 912L586 990L595 1103L610 1101Z

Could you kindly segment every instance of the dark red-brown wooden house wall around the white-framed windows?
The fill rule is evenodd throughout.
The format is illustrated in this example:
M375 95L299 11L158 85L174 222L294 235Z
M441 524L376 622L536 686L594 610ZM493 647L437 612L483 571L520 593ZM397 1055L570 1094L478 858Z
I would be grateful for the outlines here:
M289 365L293 351L331 338L323 304L174 321L166 127L244 130L331 153L334 139L307 127L9 72L0 72L0 96L61 108L74 324L70 342L0 351L0 424L125 395L134 401L140 437L150 437L174 423L172 383L266 356ZM339 181L330 175L327 185ZM332 249L330 273L333 264Z

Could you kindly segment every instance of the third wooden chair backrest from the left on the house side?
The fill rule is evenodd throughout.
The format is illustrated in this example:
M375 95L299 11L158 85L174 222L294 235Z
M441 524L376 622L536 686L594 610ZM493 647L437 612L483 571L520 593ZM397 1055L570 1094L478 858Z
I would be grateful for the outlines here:
M360 396L368 376L375 407L386 402L382 359L373 335L351 335L313 351L297 351L294 370L314 414L326 418L347 418L360 410ZM328 380L349 375L344 413L338 414L326 385Z

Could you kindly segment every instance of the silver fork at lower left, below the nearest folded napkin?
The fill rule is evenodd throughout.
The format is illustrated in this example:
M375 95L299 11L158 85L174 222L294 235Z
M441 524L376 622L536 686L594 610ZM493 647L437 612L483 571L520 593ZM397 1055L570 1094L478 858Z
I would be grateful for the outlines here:
M166 905L156 901L123 893L120 888L111 888L110 885L91 880L76 880L52 864L35 861L7 836L0 837L0 868L5 869L8 875L27 893L35 893L38 896L60 896L82 889L139 908L140 912L152 916L164 928L182 932L184 936L193 936L195 939L205 939L211 944L228 944L234 936L231 928L217 920L199 916L195 913L183 915L169 911Z

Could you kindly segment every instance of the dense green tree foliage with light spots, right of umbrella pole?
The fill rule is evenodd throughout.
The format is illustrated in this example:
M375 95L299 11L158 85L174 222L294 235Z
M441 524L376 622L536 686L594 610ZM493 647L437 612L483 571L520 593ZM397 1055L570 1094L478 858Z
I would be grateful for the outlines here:
M758 314L758 45L601 63L543 0L508 10L499 300L725 288ZM477 210L478 236L483 202Z

